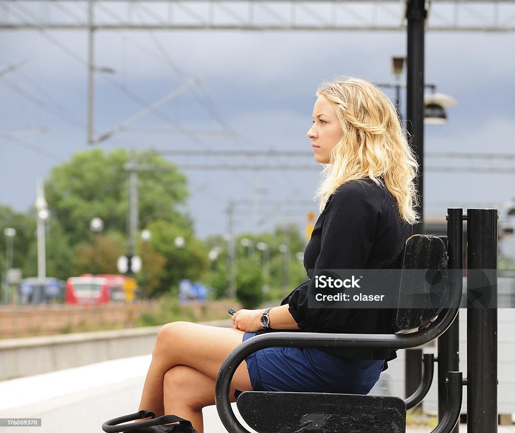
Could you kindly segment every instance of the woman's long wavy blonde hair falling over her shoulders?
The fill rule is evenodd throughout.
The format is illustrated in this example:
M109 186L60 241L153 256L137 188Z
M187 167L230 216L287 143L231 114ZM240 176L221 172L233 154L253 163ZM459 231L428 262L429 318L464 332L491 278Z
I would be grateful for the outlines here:
M404 221L418 222L418 163L390 99L359 78L324 81L316 95L332 103L341 126L315 196L320 212L340 185L368 177L389 190Z

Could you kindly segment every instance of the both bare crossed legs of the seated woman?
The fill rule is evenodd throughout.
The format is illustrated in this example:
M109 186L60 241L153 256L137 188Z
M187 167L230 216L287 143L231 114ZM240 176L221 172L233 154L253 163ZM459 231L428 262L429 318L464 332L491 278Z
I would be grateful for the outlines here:
M174 322L164 325L152 351L140 409L190 420L203 432L202 408L215 403L215 383L222 362L242 342L243 331L196 323ZM243 362L235 371L234 390L251 390Z

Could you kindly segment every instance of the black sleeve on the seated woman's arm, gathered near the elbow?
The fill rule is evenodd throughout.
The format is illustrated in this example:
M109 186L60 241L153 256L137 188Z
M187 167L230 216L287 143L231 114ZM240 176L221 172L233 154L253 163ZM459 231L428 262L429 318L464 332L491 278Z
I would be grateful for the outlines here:
M315 269L365 269L374 242L377 217L382 201L373 197L372 188L346 183L333 194L322 212L320 254ZM313 273L311 273L313 272ZM341 332L352 314L350 308L308 308L308 291L314 277L291 293L289 312L304 332Z

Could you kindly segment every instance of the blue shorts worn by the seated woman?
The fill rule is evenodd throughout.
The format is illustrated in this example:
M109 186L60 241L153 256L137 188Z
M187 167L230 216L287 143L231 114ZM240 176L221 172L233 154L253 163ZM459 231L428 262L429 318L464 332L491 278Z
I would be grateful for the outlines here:
M246 332L243 341L255 336ZM267 348L246 358L254 391L368 394L384 360L342 359L314 348Z

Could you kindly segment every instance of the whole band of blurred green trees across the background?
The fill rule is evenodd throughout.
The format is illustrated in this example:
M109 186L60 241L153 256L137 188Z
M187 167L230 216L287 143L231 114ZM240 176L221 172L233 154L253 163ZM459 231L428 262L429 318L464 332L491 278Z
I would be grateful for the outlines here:
M50 210L46 223L46 274L65 280L82 273L117 273L119 256L127 253L127 215L129 199L128 164L138 173L139 229L148 229L148 243L138 241L142 271L137 275L144 296L167 293L177 296L181 279L202 282L215 289L217 298L226 297L229 288L227 241L213 236L205 242L195 237L190 217L181 212L187 198L186 178L157 153L147 150L129 154L126 150L104 153L96 148L79 152L70 162L52 169L45 183ZM94 234L90 221L104 220L104 230ZM0 205L0 227L12 227L13 267L24 277L37 275L36 214L32 209L18 213ZM176 239L184 238L178 246ZM248 238L253 248L241 244ZM2 245L6 238L0 233ZM255 246L264 242L265 255ZM288 246L285 248L280 246ZM277 301L284 291L293 290L305 276L296 253L304 250L305 240L295 226L283 226L274 233L246 233L235 238L236 293L238 301L249 308ZM208 252L218 252L210 261ZM5 263L5 248L0 263ZM5 270L5 267L3 267ZM268 269L268 272L265 272ZM2 273L4 273L2 270ZM263 288L269 291L264 292Z

